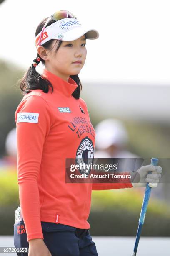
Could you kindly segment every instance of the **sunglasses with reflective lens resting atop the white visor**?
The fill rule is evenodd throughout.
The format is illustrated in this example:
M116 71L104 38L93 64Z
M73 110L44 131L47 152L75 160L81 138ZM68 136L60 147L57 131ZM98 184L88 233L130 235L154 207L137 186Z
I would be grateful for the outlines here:
M53 20L55 20L55 21L58 21L58 20L62 20L62 19L65 19L65 18L74 18L74 19L77 19L74 14L72 14L72 13L66 11L66 10L57 11L57 12L55 12L53 15L51 15L49 18L47 18L47 20L46 20L46 22L45 22L45 24L44 24L44 26L43 26L43 28L42 28L42 31L41 31L41 33L40 33L40 39L39 39L39 41L38 41L38 45L39 45L39 46L40 46L40 41L41 41L42 33L43 33L45 27L47 26L48 22L49 22L51 19L53 19Z

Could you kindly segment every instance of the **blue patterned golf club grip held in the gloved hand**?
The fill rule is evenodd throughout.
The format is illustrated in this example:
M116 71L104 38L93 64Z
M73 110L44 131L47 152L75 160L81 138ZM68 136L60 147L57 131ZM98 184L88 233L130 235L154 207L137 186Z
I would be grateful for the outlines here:
M153 157L151 159L150 164L153 164L154 166L157 166L158 165L158 158ZM151 173L151 172L149 172L149 173ZM139 243L139 239L140 239L140 233L141 233L143 223L144 223L144 220L145 220L146 210L147 210L148 201L149 201L149 197L150 197L151 187L149 187L148 184L149 183L147 182L146 189L145 189L145 196L144 196L144 199L143 199L143 205L142 205L142 209L141 209L141 212L140 212L138 231L137 231L137 235L136 235L135 246L134 246L134 249L133 249L133 256L136 256L136 253L137 253L138 243Z

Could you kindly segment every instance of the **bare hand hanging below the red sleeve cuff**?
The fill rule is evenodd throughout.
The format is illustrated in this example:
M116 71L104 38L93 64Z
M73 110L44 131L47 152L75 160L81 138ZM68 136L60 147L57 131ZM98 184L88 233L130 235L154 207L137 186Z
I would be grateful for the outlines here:
M52 256L42 238L28 241L28 256Z

